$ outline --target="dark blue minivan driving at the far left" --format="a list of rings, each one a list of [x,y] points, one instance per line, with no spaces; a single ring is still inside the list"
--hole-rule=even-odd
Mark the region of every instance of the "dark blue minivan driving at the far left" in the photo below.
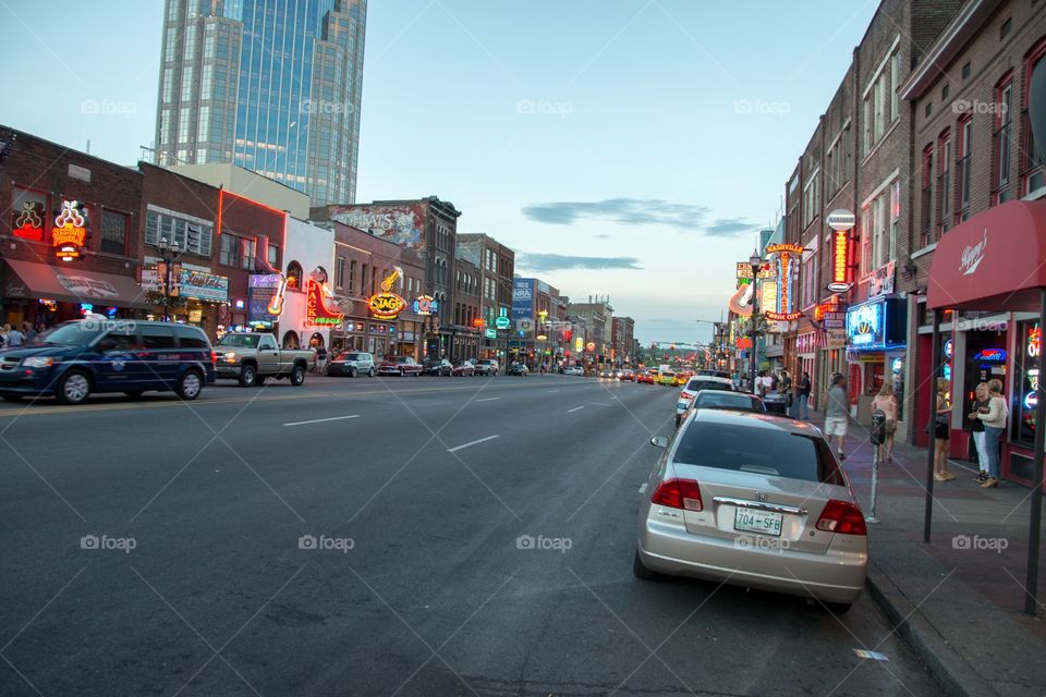
[[[88,317],[0,351],[0,398],[10,401],[53,395],[81,404],[93,392],[138,396],[147,390],[195,400],[214,381],[210,342],[187,325]]]

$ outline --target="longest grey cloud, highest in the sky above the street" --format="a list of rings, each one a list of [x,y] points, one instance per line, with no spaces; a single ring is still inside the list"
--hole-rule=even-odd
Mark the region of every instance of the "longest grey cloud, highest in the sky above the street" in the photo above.
[[[532,204],[522,209],[536,222],[571,225],[582,219],[598,218],[623,224],[656,224],[693,230],[708,215],[706,206],[672,204],[657,198],[607,198],[597,201],[551,201]]]

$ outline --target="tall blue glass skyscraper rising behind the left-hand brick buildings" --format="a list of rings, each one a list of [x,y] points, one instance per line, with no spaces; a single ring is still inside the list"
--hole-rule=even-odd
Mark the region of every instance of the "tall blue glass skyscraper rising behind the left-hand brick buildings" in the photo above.
[[[156,162],[354,203],[366,23],[367,0],[166,0]]]

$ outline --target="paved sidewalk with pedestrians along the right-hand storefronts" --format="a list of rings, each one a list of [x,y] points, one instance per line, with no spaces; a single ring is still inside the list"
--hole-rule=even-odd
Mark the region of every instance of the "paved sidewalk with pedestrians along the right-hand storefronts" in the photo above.
[[[817,426],[824,415],[811,412]],[[874,447],[850,425],[843,463],[871,510]],[[926,450],[898,441],[880,463],[868,525],[868,590],[949,694],[1046,695],[1046,564],[1039,616],[1023,613],[1031,490],[982,489],[971,463],[951,461],[934,482],[931,543],[923,542]]]

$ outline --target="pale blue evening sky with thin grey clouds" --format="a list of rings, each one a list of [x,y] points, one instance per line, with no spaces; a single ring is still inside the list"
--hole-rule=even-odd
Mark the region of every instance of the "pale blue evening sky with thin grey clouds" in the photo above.
[[[0,124],[136,162],[162,4],[0,0]],[[518,276],[707,342],[876,7],[372,0],[356,201],[452,201]]]

